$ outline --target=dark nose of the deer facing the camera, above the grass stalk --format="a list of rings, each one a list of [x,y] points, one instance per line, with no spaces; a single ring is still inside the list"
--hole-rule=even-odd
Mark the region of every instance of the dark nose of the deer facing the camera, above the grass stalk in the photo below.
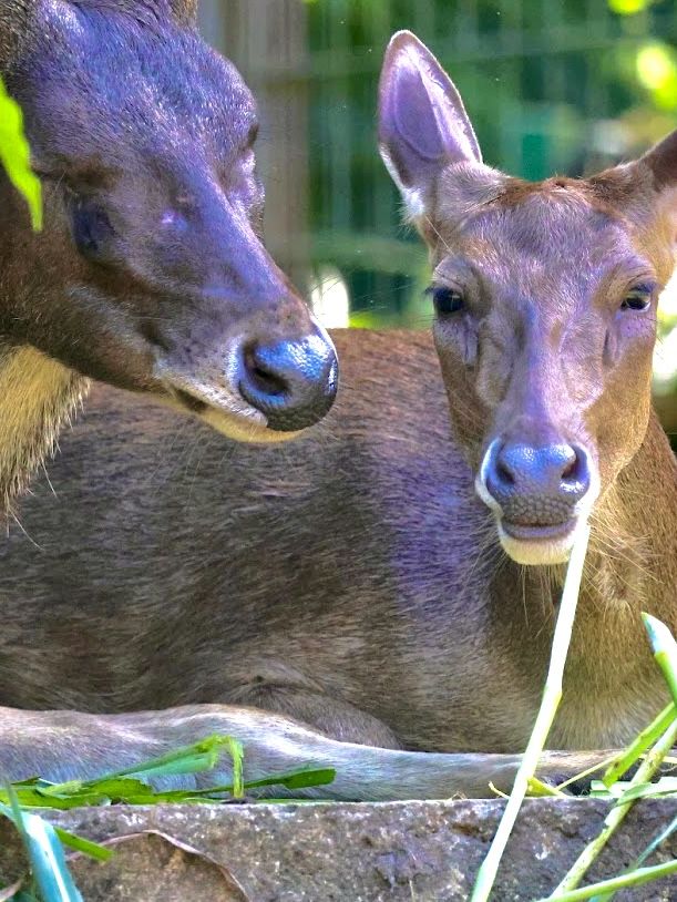
[[[585,449],[568,444],[504,442],[490,451],[484,472],[504,519],[524,526],[566,522],[591,486]]]

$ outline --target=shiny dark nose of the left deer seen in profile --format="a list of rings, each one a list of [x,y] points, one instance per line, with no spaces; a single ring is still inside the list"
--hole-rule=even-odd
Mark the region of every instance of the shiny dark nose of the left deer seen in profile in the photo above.
[[[322,419],[336,398],[336,351],[318,332],[298,341],[248,342],[238,387],[247,403],[265,414],[269,429],[306,429]]]

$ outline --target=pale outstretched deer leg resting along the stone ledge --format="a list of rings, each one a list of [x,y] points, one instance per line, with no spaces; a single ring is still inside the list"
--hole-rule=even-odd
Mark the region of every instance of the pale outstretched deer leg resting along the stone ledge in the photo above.
[[[491,797],[492,782],[509,791],[519,755],[442,755],[375,748],[329,739],[288,717],[256,708],[197,705],[165,711],[99,716],[74,711],[0,710],[0,772],[10,780],[86,779],[129,767],[212,734],[245,747],[245,778],[259,779],[304,765],[334,768],[327,787],[294,790],[295,797],[346,801]],[[541,779],[558,781],[598,763],[601,752],[547,752]],[[229,782],[228,756],[214,771],[156,781],[160,788]],[[275,796],[284,795],[271,788]]]

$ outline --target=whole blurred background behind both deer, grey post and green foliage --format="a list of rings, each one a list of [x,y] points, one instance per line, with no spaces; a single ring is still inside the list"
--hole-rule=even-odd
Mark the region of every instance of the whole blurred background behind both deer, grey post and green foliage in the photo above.
[[[202,0],[205,38],[261,109],[267,243],[328,326],[428,328],[428,268],[376,147],[393,31],[461,91],[485,161],[585,175],[677,127],[677,0]],[[656,400],[677,434],[677,279],[661,298]]]

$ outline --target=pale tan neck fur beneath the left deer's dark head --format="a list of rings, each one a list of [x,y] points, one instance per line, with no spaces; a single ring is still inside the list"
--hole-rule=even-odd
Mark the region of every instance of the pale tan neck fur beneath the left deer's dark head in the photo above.
[[[55,447],[86,379],[34,348],[0,344],[0,516]]]

